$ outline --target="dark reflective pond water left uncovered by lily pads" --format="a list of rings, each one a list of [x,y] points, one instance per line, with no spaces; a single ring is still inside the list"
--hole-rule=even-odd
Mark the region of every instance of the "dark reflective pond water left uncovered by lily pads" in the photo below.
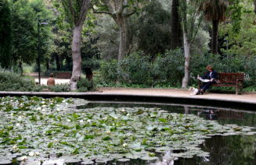
[[[195,114],[207,120],[218,121],[221,125],[243,125],[256,128],[256,113],[252,111],[236,111],[218,108],[182,106],[172,104],[128,104],[128,103],[108,103],[95,102],[89,103],[86,106],[78,108],[89,107],[157,107],[171,113],[180,114]],[[157,165],[254,165],[256,164],[256,136],[255,135],[229,135],[229,136],[213,136],[211,139],[206,139],[201,145],[202,149],[210,153],[209,157],[194,157],[193,159],[179,158],[174,163],[154,163]],[[129,164],[146,164],[144,162],[137,162]]]

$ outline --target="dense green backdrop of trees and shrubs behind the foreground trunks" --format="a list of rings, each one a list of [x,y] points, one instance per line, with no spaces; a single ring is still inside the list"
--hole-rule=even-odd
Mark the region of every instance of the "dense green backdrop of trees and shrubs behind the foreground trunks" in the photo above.
[[[82,31],[82,68],[90,67],[96,86],[180,87],[184,52],[171,50],[172,1],[146,1],[128,19],[128,55],[117,62],[119,27],[108,15],[90,10]],[[204,2],[204,1],[202,1]],[[229,1],[225,1],[229,2]],[[71,71],[72,27],[59,1],[0,0],[0,64],[13,72],[38,72],[38,23],[41,65],[49,72]],[[245,73],[244,87],[254,90],[256,26],[252,0],[229,2],[218,27],[218,54],[211,54],[211,22],[203,20],[191,45],[190,77],[208,64],[218,72]],[[243,21],[241,21],[243,20]],[[182,40],[182,39],[181,39]],[[30,70],[23,67],[32,65]],[[88,83],[81,83],[88,84]],[[189,85],[197,82],[189,80]],[[83,89],[81,87],[80,89]],[[85,90],[85,89],[84,89]]]

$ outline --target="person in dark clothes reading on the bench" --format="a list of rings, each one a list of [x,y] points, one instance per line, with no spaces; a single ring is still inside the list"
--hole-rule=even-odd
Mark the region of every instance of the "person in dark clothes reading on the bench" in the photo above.
[[[206,69],[208,71],[203,77],[201,77],[201,79],[208,79],[209,81],[204,81],[205,83],[203,83],[203,86],[201,86],[197,94],[204,94],[205,90],[207,90],[207,88],[211,86],[211,84],[216,83],[218,80],[218,72],[215,71],[212,65],[207,65]]]

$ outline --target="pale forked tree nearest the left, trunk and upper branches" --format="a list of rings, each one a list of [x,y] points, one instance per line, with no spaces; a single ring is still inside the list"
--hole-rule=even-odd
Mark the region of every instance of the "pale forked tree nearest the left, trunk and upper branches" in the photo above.
[[[61,2],[70,26],[74,27],[72,40],[73,70],[70,90],[77,90],[77,82],[81,78],[81,32],[91,0],[61,0]]]

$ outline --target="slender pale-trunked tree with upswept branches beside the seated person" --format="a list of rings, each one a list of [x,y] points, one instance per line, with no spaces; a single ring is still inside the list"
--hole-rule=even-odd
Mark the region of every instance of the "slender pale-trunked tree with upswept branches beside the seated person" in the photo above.
[[[190,65],[190,45],[197,36],[200,28],[202,15],[197,15],[197,9],[200,5],[198,1],[180,0],[179,15],[182,20],[183,47],[185,55],[185,70],[182,79],[182,88],[186,88],[189,83],[189,65]]]

